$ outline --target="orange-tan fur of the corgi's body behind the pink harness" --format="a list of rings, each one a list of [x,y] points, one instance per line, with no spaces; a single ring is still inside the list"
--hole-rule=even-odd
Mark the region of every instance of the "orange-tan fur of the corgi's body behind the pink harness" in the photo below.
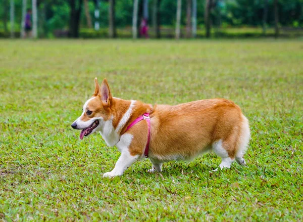
[[[150,116],[149,156],[162,162],[191,160],[212,150],[218,141],[234,158],[245,118],[237,105],[224,99],[158,105]]]

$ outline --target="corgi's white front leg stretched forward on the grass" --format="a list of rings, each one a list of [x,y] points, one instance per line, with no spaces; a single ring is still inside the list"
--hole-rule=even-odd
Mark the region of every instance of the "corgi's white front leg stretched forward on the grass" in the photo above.
[[[116,162],[115,168],[111,172],[104,173],[103,177],[121,176],[123,172],[139,157],[140,155],[130,155],[128,150],[123,151],[118,161]]]

